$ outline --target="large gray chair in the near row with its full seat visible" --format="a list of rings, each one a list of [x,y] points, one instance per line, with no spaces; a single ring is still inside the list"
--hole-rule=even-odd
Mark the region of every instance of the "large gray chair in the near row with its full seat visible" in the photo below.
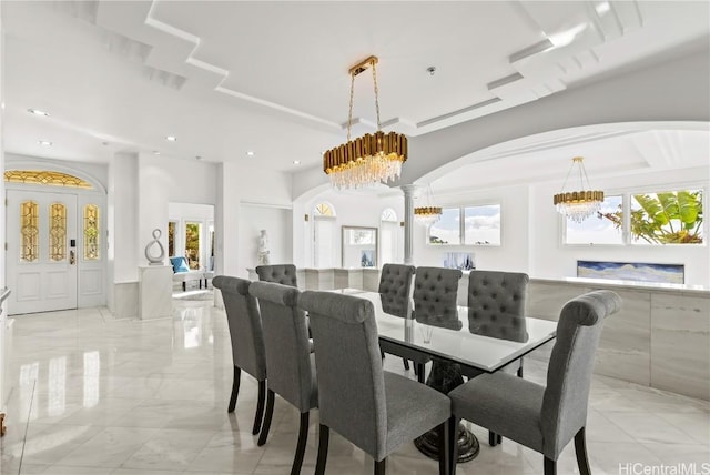
[[[377,474],[406,442],[438,427],[439,449],[448,449],[450,401],[432,387],[383,371],[372,302],[353,295],[306,291],[318,368],[321,414],[315,473],[325,473],[331,428],[371,455]],[[439,474],[448,474],[448,456]]]

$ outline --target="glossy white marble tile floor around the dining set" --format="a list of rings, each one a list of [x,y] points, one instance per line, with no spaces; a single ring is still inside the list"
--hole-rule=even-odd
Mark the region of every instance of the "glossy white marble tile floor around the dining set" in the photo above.
[[[257,447],[251,434],[256,383],[248,376],[242,378],[235,413],[226,413],[232,384],[226,320],[202,299],[200,293],[174,299],[172,319],[115,320],[105,309],[16,317],[0,473],[288,473],[298,414],[277,401],[270,441]],[[385,365],[406,373],[400,358],[386,357]],[[541,360],[526,360],[526,377],[541,382],[545,372]],[[588,421],[595,475],[710,467],[708,402],[595,376]],[[487,441],[486,431],[471,429]],[[304,474],[314,469],[316,431],[317,411]],[[413,445],[393,455],[387,468],[395,475],[437,473],[436,463]],[[371,474],[372,459],[332,434],[327,472]],[[478,458],[459,465],[458,473],[542,474],[542,458],[510,441],[497,447],[484,443]],[[571,446],[559,473],[577,473]]]

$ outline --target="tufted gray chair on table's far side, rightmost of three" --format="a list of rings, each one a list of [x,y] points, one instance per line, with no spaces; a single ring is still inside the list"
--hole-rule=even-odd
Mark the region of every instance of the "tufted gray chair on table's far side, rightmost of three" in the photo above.
[[[528,274],[474,270],[468,274],[468,326],[471,333],[486,334],[503,340],[524,341],[525,303],[527,301]],[[505,371],[517,371],[523,377],[523,358],[506,366]],[[480,371],[462,367],[464,376],[475,377]],[[498,445],[500,435],[488,434],[488,444]]]

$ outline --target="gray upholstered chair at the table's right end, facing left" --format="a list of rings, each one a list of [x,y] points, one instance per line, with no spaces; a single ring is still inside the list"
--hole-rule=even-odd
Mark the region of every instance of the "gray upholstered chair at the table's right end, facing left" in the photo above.
[[[545,475],[557,473],[557,459],[574,438],[579,472],[589,475],[585,427],[595,353],[604,320],[620,307],[621,299],[611,291],[588,292],[567,302],[557,324],[547,385],[505,372],[483,374],[449,393],[453,422],[465,418],[541,453]]]

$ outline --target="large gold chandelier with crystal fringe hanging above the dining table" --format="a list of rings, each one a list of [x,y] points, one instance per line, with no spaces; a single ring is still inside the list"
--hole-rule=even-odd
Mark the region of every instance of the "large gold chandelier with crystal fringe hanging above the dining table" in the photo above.
[[[347,143],[343,143],[323,154],[323,171],[331,176],[331,184],[337,189],[362,188],[378,182],[386,183],[399,178],[402,164],[407,160],[407,138],[396,132],[385,133],[379,124],[379,98],[377,89],[377,57],[369,57],[351,68],[351,105],[347,115]],[[367,68],[373,69],[375,84],[375,109],[377,131],[374,134],[351,140],[353,125],[353,97],[355,77]]]

